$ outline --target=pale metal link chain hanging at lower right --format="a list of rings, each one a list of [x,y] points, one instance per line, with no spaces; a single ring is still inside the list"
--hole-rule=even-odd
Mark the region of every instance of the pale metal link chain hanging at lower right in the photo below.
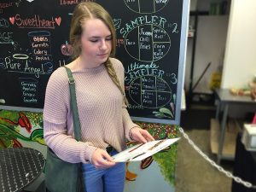
[[[211,160],[211,159],[207,156],[207,154],[204,154],[204,153],[201,151],[201,149],[198,148],[198,147],[195,145],[195,143],[189,138],[188,134],[186,134],[186,133],[183,131],[183,128],[182,128],[182,127],[179,127],[178,130],[183,134],[183,137],[188,140],[189,144],[195,149],[195,151],[196,151],[197,153],[201,154],[201,156],[202,156],[205,160],[207,160],[212,166],[214,166],[215,168],[217,168],[219,172],[222,172],[222,173],[224,173],[227,177],[230,177],[230,178],[234,179],[234,181],[235,181],[236,183],[241,183],[241,184],[243,184],[243,185],[244,185],[245,187],[247,187],[247,188],[256,189],[256,185],[253,185],[252,183],[249,183],[249,182],[247,182],[247,181],[244,181],[244,180],[241,179],[241,177],[236,177],[236,176],[234,176],[231,172],[228,172],[228,171],[224,170],[224,168],[223,168],[222,166],[218,166],[218,164],[217,164],[215,161]]]

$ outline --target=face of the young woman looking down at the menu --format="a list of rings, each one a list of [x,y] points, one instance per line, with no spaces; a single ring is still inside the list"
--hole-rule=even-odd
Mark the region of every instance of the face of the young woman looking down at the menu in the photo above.
[[[86,67],[98,67],[107,61],[112,50],[112,35],[102,20],[84,21],[81,35],[81,59]]]

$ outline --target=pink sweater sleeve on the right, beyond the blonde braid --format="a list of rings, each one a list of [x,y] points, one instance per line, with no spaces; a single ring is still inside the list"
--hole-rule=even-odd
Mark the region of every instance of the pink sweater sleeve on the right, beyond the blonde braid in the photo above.
[[[114,65],[114,67],[116,68],[116,72],[117,72],[117,76],[119,78],[120,84],[123,87],[123,90],[125,90],[125,69],[124,69],[121,61],[114,59],[114,62],[116,63],[116,65]],[[125,105],[125,101],[123,102],[122,117],[123,117],[123,126],[124,126],[124,130],[125,130],[125,137],[126,137],[126,139],[132,141],[130,134],[129,134],[131,131],[131,128],[133,128],[135,126],[137,126],[137,127],[140,127],[140,126],[132,122],[131,116],[127,111],[127,106]]]

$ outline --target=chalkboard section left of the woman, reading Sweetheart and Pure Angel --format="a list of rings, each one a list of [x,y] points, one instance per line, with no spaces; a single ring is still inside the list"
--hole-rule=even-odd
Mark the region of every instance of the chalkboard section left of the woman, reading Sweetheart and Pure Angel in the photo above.
[[[68,41],[69,13],[75,4],[67,6],[61,2],[1,1],[1,108],[44,108],[50,74],[69,61],[69,56],[61,53],[61,46]]]

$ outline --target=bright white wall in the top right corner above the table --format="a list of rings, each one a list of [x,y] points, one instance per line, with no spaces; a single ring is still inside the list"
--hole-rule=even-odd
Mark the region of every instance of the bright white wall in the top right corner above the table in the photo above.
[[[256,1],[233,0],[224,56],[222,88],[241,88],[256,74]]]

